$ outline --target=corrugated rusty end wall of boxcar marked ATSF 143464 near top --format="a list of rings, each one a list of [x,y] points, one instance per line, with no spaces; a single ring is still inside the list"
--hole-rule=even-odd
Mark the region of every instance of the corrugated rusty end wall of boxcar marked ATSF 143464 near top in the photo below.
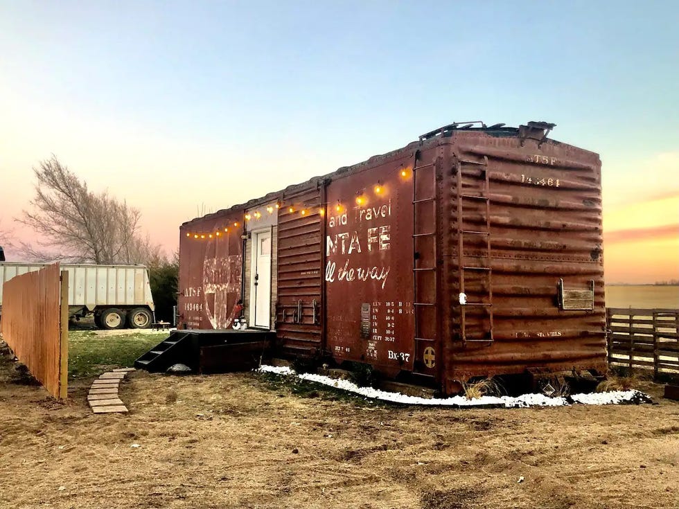
[[[536,141],[527,140],[521,146],[515,137],[485,134],[459,133],[454,143],[451,166],[455,175],[451,171],[446,179],[450,227],[443,248],[449,289],[446,305],[452,311],[446,379],[464,381],[475,375],[517,373],[527,367],[605,370],[597,155],[552,141],[538,148]],[[457,179],[461,178],[461,194],[480,198],[485,172],[488,208],[484,199],[466,199],[459,217]],[[487,210],[490,259],[482,234]],[[466,339],[484,339],[492,310],[493,341],[461,341],[459,229],[479,232],[464,235],[463,265],[492,270],[492,293],[483,271],[465,272],[468,302],[492,304],[465,308]],[[594,309],[561,309],[557,303],[560,278],[567,289],[583,291],[594,280]]]

